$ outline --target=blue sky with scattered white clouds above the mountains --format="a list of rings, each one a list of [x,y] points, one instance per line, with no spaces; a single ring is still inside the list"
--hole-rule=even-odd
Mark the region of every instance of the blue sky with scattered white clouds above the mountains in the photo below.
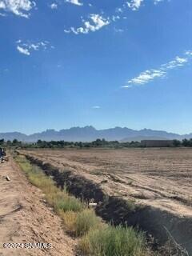
[[[192,132],[191,0],[0,0],[0,131]]]

